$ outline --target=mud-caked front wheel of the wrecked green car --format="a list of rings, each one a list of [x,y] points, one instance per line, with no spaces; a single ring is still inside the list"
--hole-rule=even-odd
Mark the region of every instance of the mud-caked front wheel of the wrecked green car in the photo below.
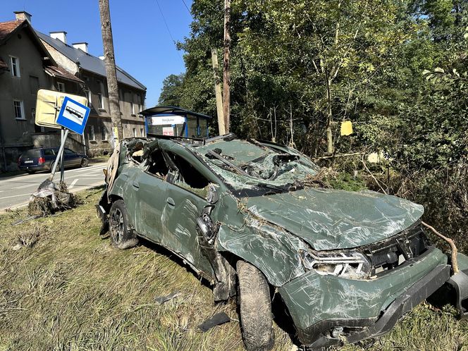
[[[275,340],[270,289],[257,267],[238,261],[238,304],[245,348],[271,350]]]

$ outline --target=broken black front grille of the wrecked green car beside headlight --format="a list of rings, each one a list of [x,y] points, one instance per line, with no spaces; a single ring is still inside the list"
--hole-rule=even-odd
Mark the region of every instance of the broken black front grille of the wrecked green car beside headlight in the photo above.
[[[371,261],[371,276],[381,276],[419,257],[429,246],[424,230],[417,223],[393,238],[364,247],[362,252]]]

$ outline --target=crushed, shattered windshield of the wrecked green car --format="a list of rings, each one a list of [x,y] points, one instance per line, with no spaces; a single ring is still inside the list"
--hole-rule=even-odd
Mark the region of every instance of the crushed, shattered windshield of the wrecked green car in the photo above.
[[[289,191],[319,171],[302,154],[281,152],[246,140],[214,142],[196,147],[196,151],[235,190],[265,187]]]

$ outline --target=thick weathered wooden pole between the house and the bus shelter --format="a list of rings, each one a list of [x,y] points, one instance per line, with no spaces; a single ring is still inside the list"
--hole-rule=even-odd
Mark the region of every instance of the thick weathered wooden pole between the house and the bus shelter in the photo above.
[[[113,147],[123,139],[121,107],[118,104],[118,85],[116,73],[116,57],[113,54],[113,39],[111,27],[111,13],[109,0],[99,0],[99,13],[101,14],[102,46],[104,47],[104,63],[106,65],[107,91],[109,92],[109,105],[111,108]]]

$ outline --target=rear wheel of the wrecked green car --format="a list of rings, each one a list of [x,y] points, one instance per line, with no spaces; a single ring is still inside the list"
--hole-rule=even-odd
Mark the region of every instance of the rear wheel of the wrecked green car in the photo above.
[[[113,202],[109,211],[109,233],[112,245],[118,249],[130,249],[138,244],[135,231],[130,227],[128,212],[123,200]]]

